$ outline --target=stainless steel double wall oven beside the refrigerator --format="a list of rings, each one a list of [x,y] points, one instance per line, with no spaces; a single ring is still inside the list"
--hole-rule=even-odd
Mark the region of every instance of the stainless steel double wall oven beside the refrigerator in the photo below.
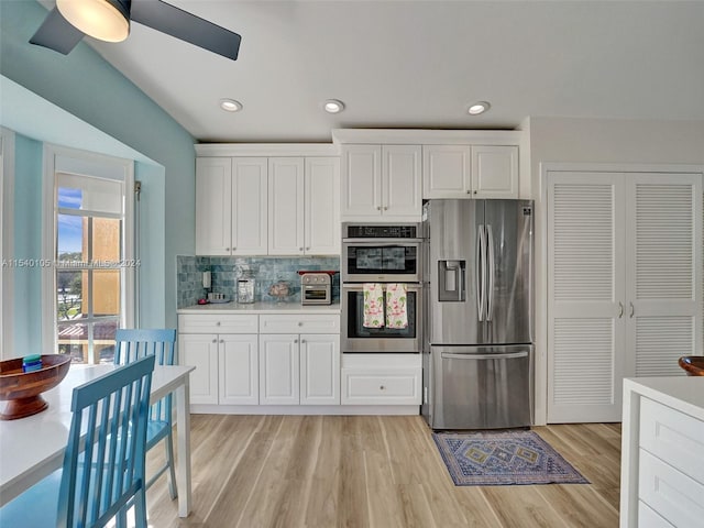
[[[341,308],[343,353],[419,353],[421,350],[422,239],[419,223],[342,224]],[[364,285],[406,287],[407,326],[365,326]],[[385,305],[385,304],[384,304]],[[384,310],[386,307],[384,306]]]

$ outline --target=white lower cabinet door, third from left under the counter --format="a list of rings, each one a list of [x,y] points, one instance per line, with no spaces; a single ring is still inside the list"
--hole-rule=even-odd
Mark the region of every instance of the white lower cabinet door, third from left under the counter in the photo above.
[[[260,336],[260,404],[298,405],[298,334]]]

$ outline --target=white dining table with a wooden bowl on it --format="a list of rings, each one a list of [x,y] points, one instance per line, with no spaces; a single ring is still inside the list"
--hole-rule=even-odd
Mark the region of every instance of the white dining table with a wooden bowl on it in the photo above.
[[[70,428],[74,387],[114,369],[117,366],[111,364],[73,364],[66,377],[43,394],[48,402],[47,409],[26,418],[0,420],[0,506],[62,466]],[[195,366],[156,365],[150,396],[150,400],[155,403],[169,393],[175,394],[179,517],[188,517],[191,501],[188,384],[193,370]]]

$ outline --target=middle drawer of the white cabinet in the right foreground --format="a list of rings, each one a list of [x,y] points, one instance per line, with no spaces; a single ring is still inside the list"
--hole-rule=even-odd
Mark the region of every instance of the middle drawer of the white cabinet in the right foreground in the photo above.
[[[638,498],[674,526],[701,526],[704,484],[639,450]],[[639,526],[647,526],[639,522]]]

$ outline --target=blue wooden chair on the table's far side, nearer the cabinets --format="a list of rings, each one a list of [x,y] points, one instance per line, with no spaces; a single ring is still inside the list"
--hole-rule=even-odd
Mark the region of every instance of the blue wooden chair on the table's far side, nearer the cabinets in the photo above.
[[[175,329],[118,329],[114,334],[114,363],[122,365],[144,358],[156,356],[156,364],[173,365],[176,361],[176,330]],[[176,498],[176,474],[174,470],[174,427],[172,420],[172,395],[154,404],[150,410],[146,426],[146,450],[148,451],[164,440],[166,463],[147,481],[147,490],[154,482],[169,470],[168,492],[172,499]]]

